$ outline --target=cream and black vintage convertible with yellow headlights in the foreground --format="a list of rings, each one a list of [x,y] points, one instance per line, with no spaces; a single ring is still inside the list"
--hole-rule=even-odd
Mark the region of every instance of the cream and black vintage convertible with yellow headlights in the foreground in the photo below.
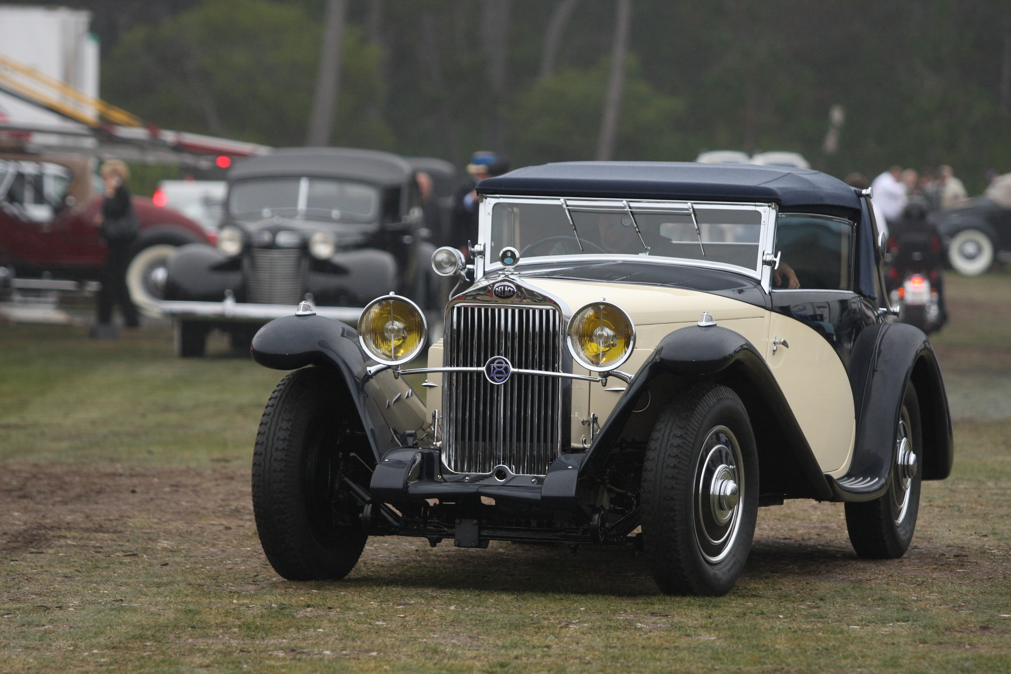
[[[253,499],[288,579],[341,578],[369,536],[643,546],[666,593],[720,595],[758,507],[845,503],[901,557],[952,462],[933,349],[889,322],[869,196],[794,168],[550,164],[480,183],[473,277],[427,366],[424,315],[265,325],[295,370],[257,436]],[[407,378],[426,379],[415,389]],[[427,392],[423,401],[420,391]]]

